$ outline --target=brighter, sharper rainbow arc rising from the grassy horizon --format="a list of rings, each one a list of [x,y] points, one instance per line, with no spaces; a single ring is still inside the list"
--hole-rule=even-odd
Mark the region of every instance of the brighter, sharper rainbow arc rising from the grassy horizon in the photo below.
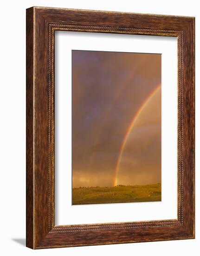
[[[133,120],[131,121],[128,129],[127,129],[127,132],[126,132],[126,135],[124,136],[123,138],[123,143],[120,147],[120,151],[119,151],[119,156],[118,156],[118,159],[117,159],[117,162],[116,162],[116,169],[115,169],[115,176],[114,176],[114,182],[113,182],[113,186],[116,186],[117,185],[117,176],[118,176],[118,172],[119,172],[119,166],[120,166],[120,162],[122,160],[122,155],[123,155],[123,150],[124,150],[124,147],[126,145],[126,142],[129,138],[129,135],[130,135],[130,132],[131,130],[133,129],[138,117],[140,116],[140,114],[142,113],[142,110],[146,107],[146,105],[148,104],[148,102],[151,100],[151,98],[157,93],[157,91],[161,88],[161,84],[159,84],[149,95],[148,97],[146,98],[146,100],[142,103],[141,107],[138,109],[138,111],[135,113],[134,117],[133,117]]]

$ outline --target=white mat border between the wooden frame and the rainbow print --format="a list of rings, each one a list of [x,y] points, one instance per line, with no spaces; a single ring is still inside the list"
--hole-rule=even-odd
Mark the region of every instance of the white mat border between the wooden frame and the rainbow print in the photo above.
[[[71,205],[72,49],[162,54],[161,202]],[[174,111],[177,109],[176,85],[177,38],[175,37],[56,31],[55,223],[57,225],[177,219],[177,111]]]

